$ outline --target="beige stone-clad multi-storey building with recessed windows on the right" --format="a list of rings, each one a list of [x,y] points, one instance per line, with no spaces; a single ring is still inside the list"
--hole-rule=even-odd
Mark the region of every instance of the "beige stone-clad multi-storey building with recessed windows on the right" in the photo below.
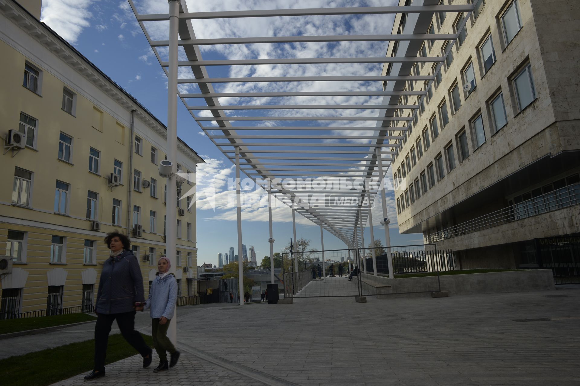
[[[393,112],[415,118],[398,124],[407,131],[394,131],[404,135],[392,169],[400,232],[422,232],[427,243],[452,249],[458,268],[548,268],[546,245],[563,247],[578,265],[580,2],[412,5],[467,2],[476,3],[467,20],[467,13],[409,13],[394,23],[393,34],[453,34],[466,21],[438,71],[440,63],[383,69],[436,75],[385,83],[426,91],[390,102],[419,104],[415,116]],[[445,57],[450,43],[401,41],[387,56]]]

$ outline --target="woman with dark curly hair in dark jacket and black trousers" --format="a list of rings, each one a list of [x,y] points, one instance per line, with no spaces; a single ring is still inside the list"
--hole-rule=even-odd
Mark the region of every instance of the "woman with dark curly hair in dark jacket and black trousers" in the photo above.
[[[139,261],[131,251],[129,238],[121,232],[111,232],[104,239],[110,257],[104,262],[99,279],[95,313],[95,365],[85,381],[105,376],[108,335],[117,321],[125,340],[143,356],[143,367],[151,365],[153,350],[135,330],[136,307],[141,307],[143,276]]]

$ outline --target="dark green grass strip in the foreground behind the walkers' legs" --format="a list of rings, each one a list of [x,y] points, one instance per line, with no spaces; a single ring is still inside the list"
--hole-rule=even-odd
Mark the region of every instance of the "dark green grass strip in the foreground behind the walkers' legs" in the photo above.
[[[143,335],[143,338],[150,347],[153,347],[153,339],[150,336]],[[93,369],[94,352],[95,340],[91,339],[25,355],[10,356],[0,360],[1,384],[44,386],[77,374],[88,374]],[[135,349],[126,343],[121,334],[109,336],[107,364],[136,354]],[[83,383],[81,378],[79,383]]]

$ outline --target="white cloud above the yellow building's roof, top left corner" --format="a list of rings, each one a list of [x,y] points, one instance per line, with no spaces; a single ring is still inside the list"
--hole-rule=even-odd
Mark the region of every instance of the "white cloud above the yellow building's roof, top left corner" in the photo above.
[[[44,0],[41,21],[69,43],[76,43],[82,30],[90,27],[88,11],[93,0]]]

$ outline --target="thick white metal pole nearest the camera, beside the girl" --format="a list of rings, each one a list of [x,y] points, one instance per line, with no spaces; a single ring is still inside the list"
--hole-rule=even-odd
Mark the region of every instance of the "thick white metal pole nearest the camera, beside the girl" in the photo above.
[[[177,41],[179,40],[179,0],[168,0],[169,3],[169,67],[168,67],[168,103],[167,103],[167,159],[172,164],[172,172],[177,165]],[[133,141],[133,139],[131,139]],[[167,229],[165,234],[165,256],[171,261],[170,272],[177,267],[177,183],[170,175],[167,179]],[[167,336],[171,343],[177,344],[177,307],[169,323]]]

